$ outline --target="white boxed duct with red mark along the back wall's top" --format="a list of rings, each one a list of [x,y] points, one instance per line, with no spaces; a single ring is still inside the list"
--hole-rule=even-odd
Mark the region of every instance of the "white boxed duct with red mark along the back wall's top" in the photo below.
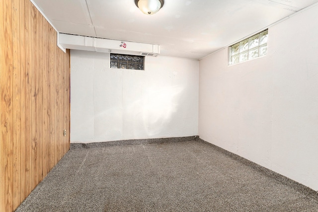
[[[118,53],[126,55],[143,55],[157,57],[160,46],[156,44],[119,41],[104,38],[93,38],[80,35],[59,33],[58,45],[65,49],[76,49],[93,52]]]

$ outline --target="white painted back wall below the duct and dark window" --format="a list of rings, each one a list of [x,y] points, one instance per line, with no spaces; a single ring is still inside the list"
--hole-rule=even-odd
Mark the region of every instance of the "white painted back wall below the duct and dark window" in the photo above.
[[[147,57],[145,69],[71,50],[71,142],[197,135],[199,62]]]

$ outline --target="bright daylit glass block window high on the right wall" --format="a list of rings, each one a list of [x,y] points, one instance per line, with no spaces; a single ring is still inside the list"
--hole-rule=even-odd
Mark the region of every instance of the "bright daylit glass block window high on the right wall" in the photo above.
[[[268,29],[230,47],[229,65],[266,55]]]

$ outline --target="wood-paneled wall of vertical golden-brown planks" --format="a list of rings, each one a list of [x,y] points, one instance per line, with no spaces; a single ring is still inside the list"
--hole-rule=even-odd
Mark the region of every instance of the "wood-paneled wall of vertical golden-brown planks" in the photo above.
[[[70,52],[56,42],[30,0],[0,1],[0,212],[14,211],[70,147]]]

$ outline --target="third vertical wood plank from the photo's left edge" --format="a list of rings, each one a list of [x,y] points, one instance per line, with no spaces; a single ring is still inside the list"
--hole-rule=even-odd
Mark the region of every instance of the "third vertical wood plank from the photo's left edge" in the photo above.
[[[20,203],[25,199],[25,42],[24,42],[24,0],[19,0],[20,18]]]

